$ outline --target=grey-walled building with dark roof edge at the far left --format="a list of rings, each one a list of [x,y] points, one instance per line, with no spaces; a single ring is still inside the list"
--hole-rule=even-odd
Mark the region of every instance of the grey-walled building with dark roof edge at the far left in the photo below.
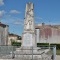
[[[0,22],[0,45],[8,45],[8,27]]]

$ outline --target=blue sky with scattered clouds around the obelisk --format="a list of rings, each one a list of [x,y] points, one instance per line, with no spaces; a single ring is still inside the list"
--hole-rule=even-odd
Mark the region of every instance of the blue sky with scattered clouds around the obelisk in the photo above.
[[[35,24],[60,24],[60,0],[0,0],[0,21],[22,35],[26,3],[34,3]]]

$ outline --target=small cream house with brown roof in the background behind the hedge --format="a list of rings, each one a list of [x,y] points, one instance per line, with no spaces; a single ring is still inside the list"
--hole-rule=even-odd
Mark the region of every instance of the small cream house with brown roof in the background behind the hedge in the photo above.
[[[13,41],[14,42],[21,42],[22,41],[22,38],[19,35],[16,35],[16,34],[11,33],[8,36],[8,45],[11,45],[11,42],[13,42]]]

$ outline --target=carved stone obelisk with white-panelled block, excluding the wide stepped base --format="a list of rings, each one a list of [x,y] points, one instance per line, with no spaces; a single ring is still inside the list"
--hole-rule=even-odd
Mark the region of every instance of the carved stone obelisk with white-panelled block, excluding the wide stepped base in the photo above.
[[[34,24],[34,5],[33,3],[26,4],[24,18],[24,32],[22,36],[23,47],[36,47],[35,40],[35,24]]]

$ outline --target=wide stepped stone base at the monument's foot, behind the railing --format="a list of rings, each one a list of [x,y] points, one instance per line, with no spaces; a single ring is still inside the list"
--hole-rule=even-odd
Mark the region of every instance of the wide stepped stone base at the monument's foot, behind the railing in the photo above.
[[[19,57],[20,59],[27,60],[49,60],[49,56],[46,54],[49,49],[42,50],[37,47],[21,47],[19,50],[17,49],[15,52],[15,58]],[[47,52],[46,52],[47,51]]]

